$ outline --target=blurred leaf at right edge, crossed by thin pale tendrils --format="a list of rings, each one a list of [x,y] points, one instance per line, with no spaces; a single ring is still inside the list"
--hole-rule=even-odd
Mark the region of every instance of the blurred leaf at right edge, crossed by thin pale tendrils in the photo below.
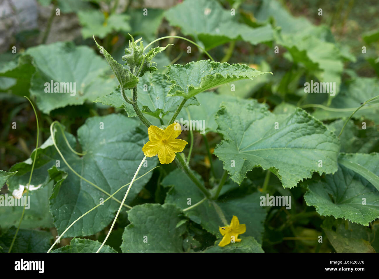
[[[341,93],[332,100],[330,109],[316,109],[313,116],[319,120],[329,120],[349,117],[364,101],[377,95],[379,81],[377,78],[359,77],[341,85]],[[335,109],[335,110],[334,110]],[[367,118],[379,122],[379,105],[366,104],[357,111],[352,118]]]

